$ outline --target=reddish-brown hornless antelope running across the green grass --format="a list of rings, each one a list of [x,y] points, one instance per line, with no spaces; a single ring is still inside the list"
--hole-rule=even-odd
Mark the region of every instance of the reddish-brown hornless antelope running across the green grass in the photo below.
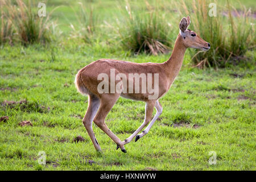
[[[172,82],[178,75],[186,49],[199,48],[204,51],[210,49],[208,42],[200,38],[196,32],[187,29],[189,24],[189,16],[181,19],[179,24],[180,32],[177,35],[172,55],[164,63],[138,64],[120,60],[100,59],[80,69],[77,73],[76,88],[78,92],[87,94],[89,97],[88,109],[82,122],[97,151],[101,151],[101,147],[94,136],[92,122],[114,140],[117,144],[117,149],[121,148],[122,152],[126,152],[125,144],[131,142],[134,137],[135,142],[137,142],[138,139],[146,135],[162,113],[163,107],[160,105],[159,98],[168,92]],[[154,79],[152,79],[152,75],[154,75]],[[110,80],[108,80],[109,77]],[[103,81],[102,78],[104,78]],[[155,93],[153,93],[154,91]],[[146,102],[144,122],[123,142],[105,124],[106,115],[108,115],[120,96]],[[156,114],[150,122],[154,107]],[[150,124],[147,126],[149,122]],[[139,134],[144,127],[146,129]]]

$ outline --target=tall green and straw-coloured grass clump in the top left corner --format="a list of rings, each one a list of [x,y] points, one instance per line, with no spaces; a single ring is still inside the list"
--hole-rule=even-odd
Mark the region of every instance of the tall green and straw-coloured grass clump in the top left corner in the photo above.
[[[46,43],[51,38],[49,14],[46,17],[39,17],[37,12],[32,11],[31,2],[28,5],[23,0],[1,1],[2,17],[1,22],[1,43],[7,38],[13,42],[20,42],[24,46],[32,43]],[[35,6],[36,7],[36,6]],[[1,17],[1,18],[2,18]],[[3,36],[2,36],[3,35]]]

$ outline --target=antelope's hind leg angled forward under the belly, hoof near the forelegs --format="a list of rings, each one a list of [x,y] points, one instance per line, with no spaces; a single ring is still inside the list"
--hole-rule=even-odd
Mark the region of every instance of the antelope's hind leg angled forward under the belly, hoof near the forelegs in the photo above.
[[[123,146],[121,140],[112,131],[110,131],[105,123],[106,115],[108,115],[109,111],[112,109],[119,96],[120,94],[117,93],[108,94],[106,97],[102,96],[100,109],[98,110],[98,113],[96,114],[96,117],[93,119],[93,121],[117,144],[118,148],[121,148],[122,152],[126,153],[125,147]]]

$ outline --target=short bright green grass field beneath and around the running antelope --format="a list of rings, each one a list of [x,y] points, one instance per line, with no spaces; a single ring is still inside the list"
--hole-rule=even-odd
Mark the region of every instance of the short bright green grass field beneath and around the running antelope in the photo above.
[[[115,1],[93,3],[96,11],[109,15],[107,20],[115,21]],[[232,3],[239,9],[237,1]],[[254,1],[244,3],[255,12]],[[59,19],[60,40],[0,49],[0,117],[9,117],[0,122],[0,170],[256,169],[255,49],[238,65],[223,69],[192,68],[187,51],[179,76],[160,98],[163,113],[150,132],[127,144],[124,154],[93,124],[102,148],[97,153],[82,124],[88,98],[73,84],[77,71],[101,58],[162,63],[171,52],[134,56],[108,44],[106,37],[92,45],[69,39],[69,24],[77,24],[70,6],[79,5],[51,1],[49,9],[59,5],[52,16]],[[123,140],[143,119],[144,102],[119,98],[106,125]],[[22,121],[32,126],[19,126]],[[79,135],[85,140],[74,142]],[[39,151],[46,152],[46,165],[38,163]],[[208,162],[211,151],[217,156],[214,165]]]

